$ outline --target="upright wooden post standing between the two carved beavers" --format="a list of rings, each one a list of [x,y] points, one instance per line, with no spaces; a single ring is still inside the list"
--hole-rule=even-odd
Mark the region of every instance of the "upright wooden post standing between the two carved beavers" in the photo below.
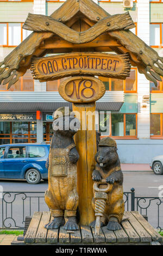
[[[95,102],[73,103],[73,111],[78,111],[81,117],[81,130],[74,136],[74,142],[80,156],[77,163],[80,225],[89,225],[95,220],[95,212],[91,204],[93,198],[92,171],[95,168],[95,154],[97,151],[95,115],[92,115],[92,130],[88,130],[89,121],[87,118],[87,113],[89,111],[93,113],[95,110]],[[82,130],[82,127],[85,130]]]

